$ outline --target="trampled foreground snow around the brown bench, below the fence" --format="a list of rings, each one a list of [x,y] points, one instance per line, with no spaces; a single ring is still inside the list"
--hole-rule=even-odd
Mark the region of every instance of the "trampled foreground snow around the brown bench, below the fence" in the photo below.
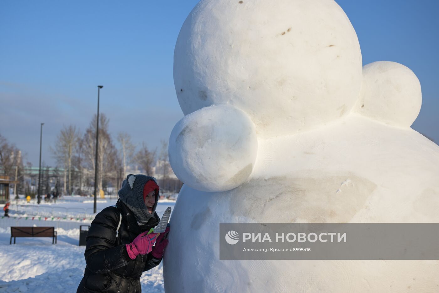
[[[86,265],[85,246],[76,245],[79,230],[75,238],[58,236],[56,245],[50,238],[17,238],[9,245],[10,236],[0,233],[0,292],[76,292]],[[162,264],[140,282],[144,292],[164,292]]]

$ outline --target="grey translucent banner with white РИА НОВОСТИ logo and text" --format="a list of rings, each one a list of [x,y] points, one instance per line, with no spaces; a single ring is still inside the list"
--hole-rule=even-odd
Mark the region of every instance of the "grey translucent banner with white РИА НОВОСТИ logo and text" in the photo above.
[[[220,260],[439,260],[439,224],[219,224]]]

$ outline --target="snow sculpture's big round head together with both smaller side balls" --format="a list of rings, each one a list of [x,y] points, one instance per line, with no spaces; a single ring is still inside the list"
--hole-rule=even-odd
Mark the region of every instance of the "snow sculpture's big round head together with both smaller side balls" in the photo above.
[[[174,84],[186,117],[171,133],[169,161],[203,191],[244,183],[258,139],[352,112],[409,127],[421,106],[407,67],[362,69],[356,33],[333,0],[201,0],[177,39]]]

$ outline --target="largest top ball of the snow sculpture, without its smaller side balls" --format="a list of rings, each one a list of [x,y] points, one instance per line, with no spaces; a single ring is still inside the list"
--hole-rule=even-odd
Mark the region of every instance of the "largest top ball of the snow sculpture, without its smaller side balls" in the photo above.
[[[174,84],[185,115],[234,105],[266,138],[349,112],[361,66],[356,33],[335,1],[202,0],[178,36]]]

